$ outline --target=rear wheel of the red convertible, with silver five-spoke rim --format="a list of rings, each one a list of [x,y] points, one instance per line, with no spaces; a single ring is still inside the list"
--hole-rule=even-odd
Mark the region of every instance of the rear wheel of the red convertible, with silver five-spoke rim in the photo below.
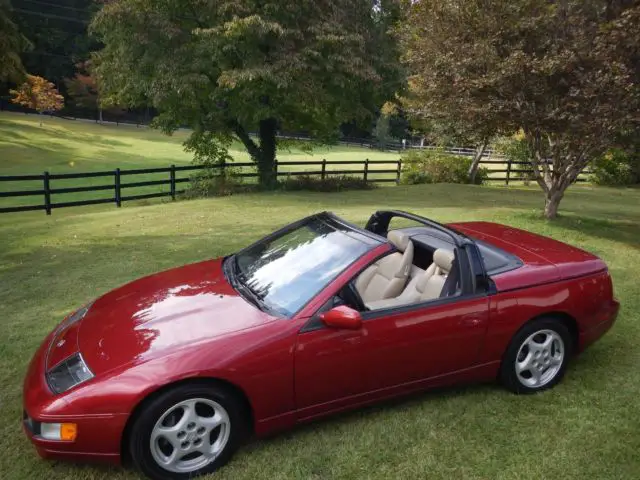
[[[500,366],[500,380],[514,393],[547,390],[562,380],[572,351],[571,334],[560,320],[533,320],[509,343]]]

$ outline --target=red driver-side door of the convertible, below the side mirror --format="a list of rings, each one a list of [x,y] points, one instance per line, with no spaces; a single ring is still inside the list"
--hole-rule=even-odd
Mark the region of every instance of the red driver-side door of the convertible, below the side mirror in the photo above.
[[[428,379],[472,366],[488,306],[482,294],[362,312],[358,330],[312,319],[295,350],[299,419],[426,386]]]

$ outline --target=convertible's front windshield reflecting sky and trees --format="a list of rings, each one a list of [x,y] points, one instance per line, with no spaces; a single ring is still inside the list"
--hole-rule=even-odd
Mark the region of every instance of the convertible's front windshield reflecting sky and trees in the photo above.
[[[379,244],[330,218],[313,217],[236,254],[236,279],[270,310],[291,316]]]

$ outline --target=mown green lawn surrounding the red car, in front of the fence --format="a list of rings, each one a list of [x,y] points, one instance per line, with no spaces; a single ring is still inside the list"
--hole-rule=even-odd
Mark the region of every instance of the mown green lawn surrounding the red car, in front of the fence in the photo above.
[[[617,324],[551,391],[516,396],[480,385],[413,396],[256,441],[212,478],[640,478],[640,191],[572,187],[564,216],[552,223],[540,218],[541,205],[533,188],[434,185],[0,215],[0,477],[138,478],[42,461],[22,434],[27,363],[67,312],[142,275],[233,252],[312,212],[363,224],[387,207],[444,222],[502,222],[601,256],[622,302]]]

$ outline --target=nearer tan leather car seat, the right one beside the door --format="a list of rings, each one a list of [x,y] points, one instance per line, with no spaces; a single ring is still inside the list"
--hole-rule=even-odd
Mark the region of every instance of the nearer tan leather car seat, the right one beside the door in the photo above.
[[[440,297],[447,275],[451,271],[454,255],[450,250],[442,248],[433,253],[433,263],[422,273],[412,275],[404,291],[395,298],[367,302],[365,305],[371,310],[390,308],[411,303],[425,302]]]

